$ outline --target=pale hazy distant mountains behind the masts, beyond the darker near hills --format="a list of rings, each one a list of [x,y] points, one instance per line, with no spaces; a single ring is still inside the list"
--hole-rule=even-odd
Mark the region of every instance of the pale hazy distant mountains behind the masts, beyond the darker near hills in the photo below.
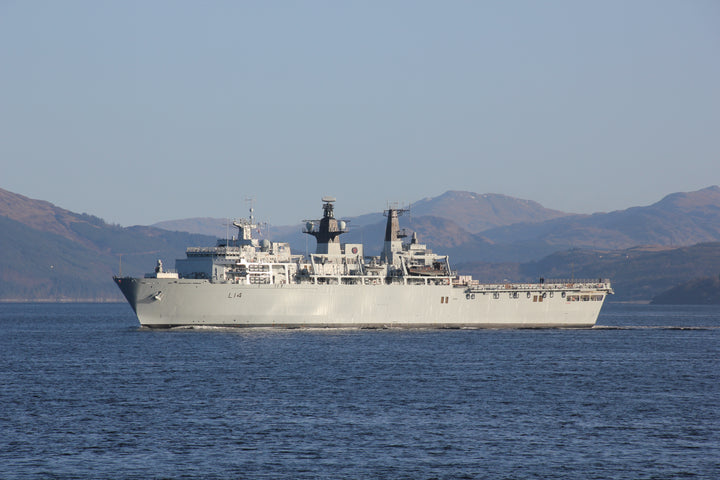
[[[366,244],[368,254],[382,249],[384,218],[336,215],[349,221],[344,241]],[[312,218],[313,216],[310,216]],[[222,219],[187,219],[154,226],[226,235]],[[720,187],[674,193],[646,207],[578,215],[550,210],[536,202],[505,195],[449,191],[415,202],[402,226],[418,232],[420,241],[447,252],[457,262],[526,262],[569,248],[624,249],[636,245],[683,246],[720,241]],[[201,226],[207,225],[207,230]],[[268,237],[305,251],[301,223],[272,226]]]

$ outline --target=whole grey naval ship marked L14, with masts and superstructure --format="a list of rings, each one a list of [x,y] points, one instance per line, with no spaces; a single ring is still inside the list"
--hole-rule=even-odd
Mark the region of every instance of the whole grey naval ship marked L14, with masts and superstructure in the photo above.
[[[347,223],[323,197],[323,216],[305,221],[314,254],[253,238],[258,225],[233,222],[237,237],[191,247],[175,271],[158,260],[144,278],[114,277],[142,326],[234,327],[592,327],[608,280],[487,284],[456,275],[447,256],[409,241],[399,227],[407,210],[388,208],[382,254],[340,243]]]

